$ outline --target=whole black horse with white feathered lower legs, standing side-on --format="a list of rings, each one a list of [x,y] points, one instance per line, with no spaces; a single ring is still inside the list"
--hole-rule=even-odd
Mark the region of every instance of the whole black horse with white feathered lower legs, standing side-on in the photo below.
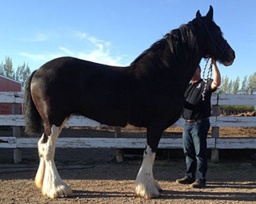
[[[55,144],[72,114],[102,124],[146,127],[143,163],[135,181],[135,193],[159,196],[152,166],[163,131],[174,124],[183,108],[186,86],[204,57],[229,66],[235,52],[212,20],[213,9],[167,33],[128,67],[115,67],[73,57],[47,62],[29,77],[25,90],[27,132],[44,133],[38,142],[40,164],[36,186],[51,198],[70,196],[55,167]]]

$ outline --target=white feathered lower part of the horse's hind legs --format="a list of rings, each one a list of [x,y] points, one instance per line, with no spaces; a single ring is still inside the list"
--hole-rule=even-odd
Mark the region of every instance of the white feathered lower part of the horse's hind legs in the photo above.
[[[40,142],[43,137],[38,142],[38,151],[43,157],[40,159],[36,184],[41,184],[41,180],[43,179],[42,193],[50,198],[72,196],[71,188],[61,180],[54,163],[55,145],[61,128],[52,125],[51,130],[52,133],[46,143]],[[41,172],[44,172],[44,176],[40,176],[42,174]]]

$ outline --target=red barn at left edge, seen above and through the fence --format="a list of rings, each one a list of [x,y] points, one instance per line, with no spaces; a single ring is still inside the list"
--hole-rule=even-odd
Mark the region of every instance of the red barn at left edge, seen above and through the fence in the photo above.
[[[21,91],[21,83],[0,75],[0,91]],[[22,104],[19,104],[22,114]],[[0,103],[0,114],[12,114],[12,103]]]

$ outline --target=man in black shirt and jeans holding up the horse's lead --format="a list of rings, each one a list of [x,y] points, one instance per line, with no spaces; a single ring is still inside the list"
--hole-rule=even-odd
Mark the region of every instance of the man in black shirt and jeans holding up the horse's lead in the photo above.
[[[179,184],[191,184],[193,188],[206,186],[207,173],[207,133],[210,127],[212,92],[221,84],[221,76],[215,60],[211,59],[213,79],[204,82],[198,65],[189,86],[185,91],[185,104],[182,117],[183,150],[186,157],[185,177],[177,179]],[[203,96],[203,94],[205,94]]]

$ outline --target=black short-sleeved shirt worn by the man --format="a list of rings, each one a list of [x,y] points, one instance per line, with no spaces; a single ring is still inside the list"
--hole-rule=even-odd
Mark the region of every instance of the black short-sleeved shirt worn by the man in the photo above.
[[[182,117],[186,120],[207,118],[211,116],[211,96],[212,92],[212,79],[207,82],[205,96],[203,101],[202,93],[204,91],[205,82],[200,79],[198,82],[192,84],[186,88],[184,97],[185,104],[182,112]]]

